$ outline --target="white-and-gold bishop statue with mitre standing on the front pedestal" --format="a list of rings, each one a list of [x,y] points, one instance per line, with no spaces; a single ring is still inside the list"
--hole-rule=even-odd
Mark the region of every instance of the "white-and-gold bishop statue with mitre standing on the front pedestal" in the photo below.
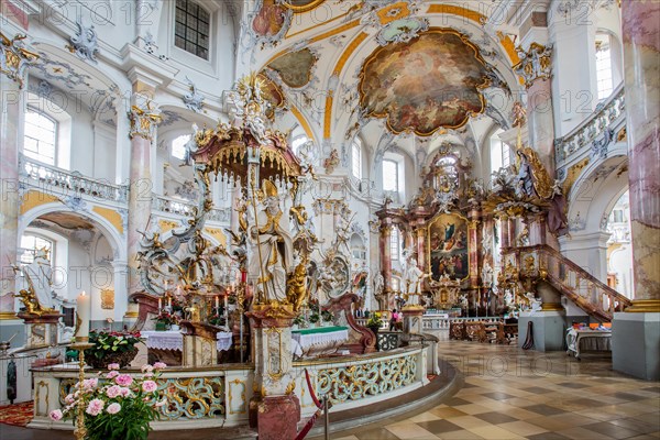
[[[250,260],[248,274],[256,292],[268,301],[286,300],[286,277],[294,270],[294,242],[287,216],[279,208],[277,188],[264,180],[264,209],[249,230]]]

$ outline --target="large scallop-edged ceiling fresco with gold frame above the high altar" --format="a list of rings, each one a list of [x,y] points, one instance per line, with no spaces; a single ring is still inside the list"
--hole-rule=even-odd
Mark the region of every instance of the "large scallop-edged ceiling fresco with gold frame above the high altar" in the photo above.
[[[394,133],[428,136],[483,112],[480,88],[487,84],[479,48],[465,35],[437,28],[376,48],[360,73],[360,105],[366,116],[386,118]]]

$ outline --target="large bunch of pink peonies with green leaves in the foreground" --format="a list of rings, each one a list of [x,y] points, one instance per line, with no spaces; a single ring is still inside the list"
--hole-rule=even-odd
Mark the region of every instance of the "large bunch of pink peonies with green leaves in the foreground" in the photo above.
[[[84,422],[88,440],[145,440],[150,422],[158,418],[167,403],[158,399],[157,378],[166,365],[156,362],[143,365],[142,375],[122,374],[119,364],[108,365],[109,372],[77,383],[65,397],[63,409],[51,411],[51,419],[73,419],[79,405],[85,407]]]

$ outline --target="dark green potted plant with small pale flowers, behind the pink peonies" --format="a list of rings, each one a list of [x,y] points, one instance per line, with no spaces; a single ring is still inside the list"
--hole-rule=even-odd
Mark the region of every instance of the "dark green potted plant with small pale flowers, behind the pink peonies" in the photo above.
[[[128,366],[138,355],[138,343],[142,342],[140,332],[121,332],[92,330],[89,332],[89,343],[94,346],[85,350],[87,364],[95,369],[106,369],[108,364],[117,363]]]

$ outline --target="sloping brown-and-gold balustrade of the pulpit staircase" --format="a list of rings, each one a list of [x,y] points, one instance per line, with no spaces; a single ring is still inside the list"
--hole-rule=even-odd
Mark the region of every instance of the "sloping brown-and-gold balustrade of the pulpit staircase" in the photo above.
[[[521,276],[544,278],[578,307],[598,319],[610,321],[615,311],[624,311],[632,304],[548,245],[516,248],[504,253],[515,254]],[[522,262],[529,256],[534,257],[534,265],[524,267]]]

